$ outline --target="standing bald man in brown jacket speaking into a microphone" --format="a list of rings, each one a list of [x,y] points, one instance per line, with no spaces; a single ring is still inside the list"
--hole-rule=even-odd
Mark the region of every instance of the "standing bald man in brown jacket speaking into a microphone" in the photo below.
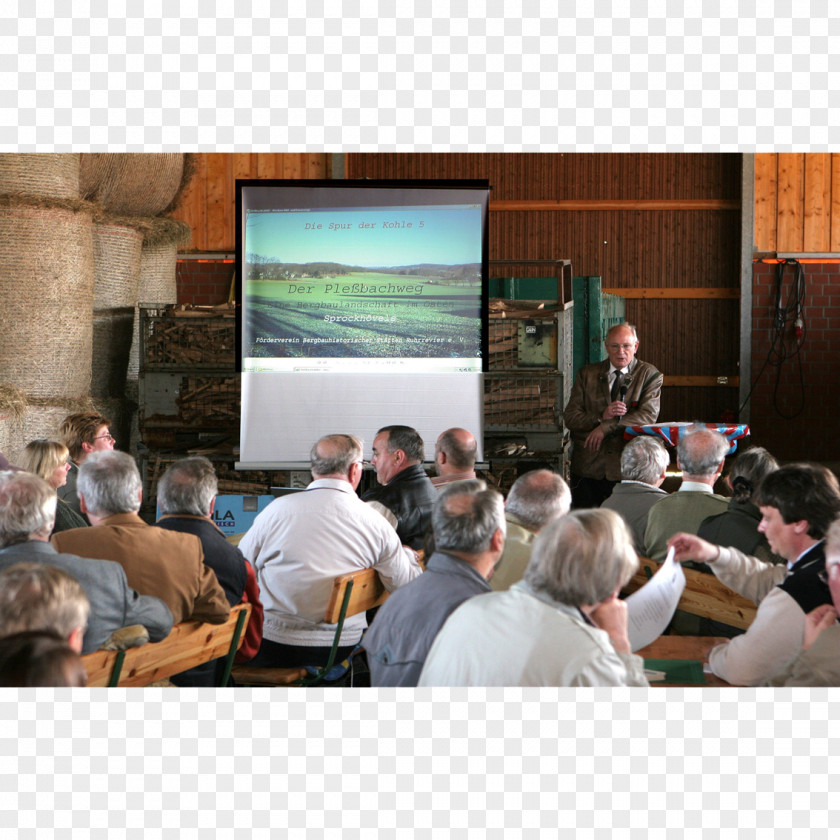
[[[578,372],[563,421],[572,433],[572,507],[599,507],[621,480],[624,429],[656,422],[662,374],[636,358],[632,324],[607,333],[607,359]]]

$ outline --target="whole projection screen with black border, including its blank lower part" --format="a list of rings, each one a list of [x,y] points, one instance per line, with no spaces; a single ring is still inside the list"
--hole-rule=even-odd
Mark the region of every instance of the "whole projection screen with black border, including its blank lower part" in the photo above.
[[[240,469],[322,435],[461,426],[481,451],[486,181],[236,182]]]

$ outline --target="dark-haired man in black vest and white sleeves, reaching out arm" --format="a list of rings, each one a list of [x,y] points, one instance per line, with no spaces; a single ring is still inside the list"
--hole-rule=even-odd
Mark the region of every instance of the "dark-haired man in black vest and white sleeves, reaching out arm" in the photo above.
[[[834,474],[818,464],[786,464],[761,482],[755,502],[761,510],[758,528],[787,566],[764,563],[693,534],[669,540],[677,561],[708,563],[723,583],[758,604],[747,632],[709,653],[713,673],[733,685],[760,685],[784,671],[802,647],[807,614],[831,603],[821,575],[823,538],[840,515]]]

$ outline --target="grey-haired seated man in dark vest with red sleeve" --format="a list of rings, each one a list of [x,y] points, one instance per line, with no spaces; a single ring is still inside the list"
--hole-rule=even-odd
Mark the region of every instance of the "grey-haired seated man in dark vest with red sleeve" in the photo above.
[[[195,455],[176,461],[158,482],[157,501],[162,516],[156,524],[166,531],[198,537],[204,564],[215,572],[228,604],[235,606],[244,601],[252,605],[245,639],[236,656],[237,662],[247,662],[260,648],[263,609],[253,567],[211,519],[218,489],[216,471],[207,458]],[[217,668],[223,661],[198,665],[172,677],[172,682],[181,686],[217,685]]]

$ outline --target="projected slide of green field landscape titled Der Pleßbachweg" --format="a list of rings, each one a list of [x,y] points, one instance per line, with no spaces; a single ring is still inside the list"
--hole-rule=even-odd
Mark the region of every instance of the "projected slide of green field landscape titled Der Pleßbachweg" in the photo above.
[[[478,205],[252,211],[243,357],[481,358]]]

